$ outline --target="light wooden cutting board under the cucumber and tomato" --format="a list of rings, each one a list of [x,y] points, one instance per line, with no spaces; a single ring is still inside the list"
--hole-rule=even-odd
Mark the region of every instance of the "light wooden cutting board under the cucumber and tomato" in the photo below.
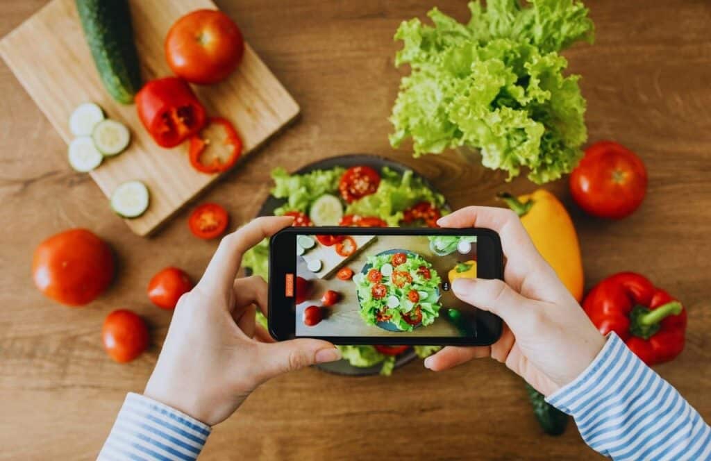
[[[176,19],[196,9],[217,9],[210,0],[129,3],[144,81],[171,75],[163,44]],[[135,233],[148,235],[218,178],[192,169],[186,143],[174,149],[158,147],[139,122],[135,105],[112,100],[95,68],[73,0],[51,1],[0,41],[0,55],[65,142],[73,139],[69,116],[82,102],[96,102],[108,117],[129,127],[129,148],[105,159],[90,174],[107,197],[132,179],[149,187],[146,213],[126,220]],[[299,113],[299,105],[248,45],[242,63],[227,80],[193,89],[208,115],[221,115],[235,124],[244,141],[242,159]]]

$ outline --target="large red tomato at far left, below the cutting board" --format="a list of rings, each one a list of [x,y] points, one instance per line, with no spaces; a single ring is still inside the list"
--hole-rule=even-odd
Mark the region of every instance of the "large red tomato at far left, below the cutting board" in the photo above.
[[[81,306],[109,286],[114,277],[114,255],[109,245],[89,230],[65,230],[37,247],[32,277],[46,297],[67,306]]]

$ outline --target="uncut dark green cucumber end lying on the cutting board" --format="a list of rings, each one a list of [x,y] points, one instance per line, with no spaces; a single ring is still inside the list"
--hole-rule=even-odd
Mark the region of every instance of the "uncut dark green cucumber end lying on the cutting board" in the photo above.
[[[76,0],[84,35],[104,87],[114,100],[131,104],[141,89],[128,0]]]

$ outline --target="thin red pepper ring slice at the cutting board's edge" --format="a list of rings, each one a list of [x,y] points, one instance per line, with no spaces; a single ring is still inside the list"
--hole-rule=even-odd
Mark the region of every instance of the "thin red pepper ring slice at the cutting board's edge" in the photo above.
[[[221,173],[232,168],[242,154],[242,138],[222,117],[212,117],[190,137],[190,164],[202,173]]]

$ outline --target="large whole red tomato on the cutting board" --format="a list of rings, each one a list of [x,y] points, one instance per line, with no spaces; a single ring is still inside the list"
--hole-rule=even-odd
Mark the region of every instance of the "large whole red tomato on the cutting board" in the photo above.
[[[226,14],[201,9],[173,24],[165,43],[173,73],[191,83],[207,85],[225,79],[245,53],[242,33]]]

